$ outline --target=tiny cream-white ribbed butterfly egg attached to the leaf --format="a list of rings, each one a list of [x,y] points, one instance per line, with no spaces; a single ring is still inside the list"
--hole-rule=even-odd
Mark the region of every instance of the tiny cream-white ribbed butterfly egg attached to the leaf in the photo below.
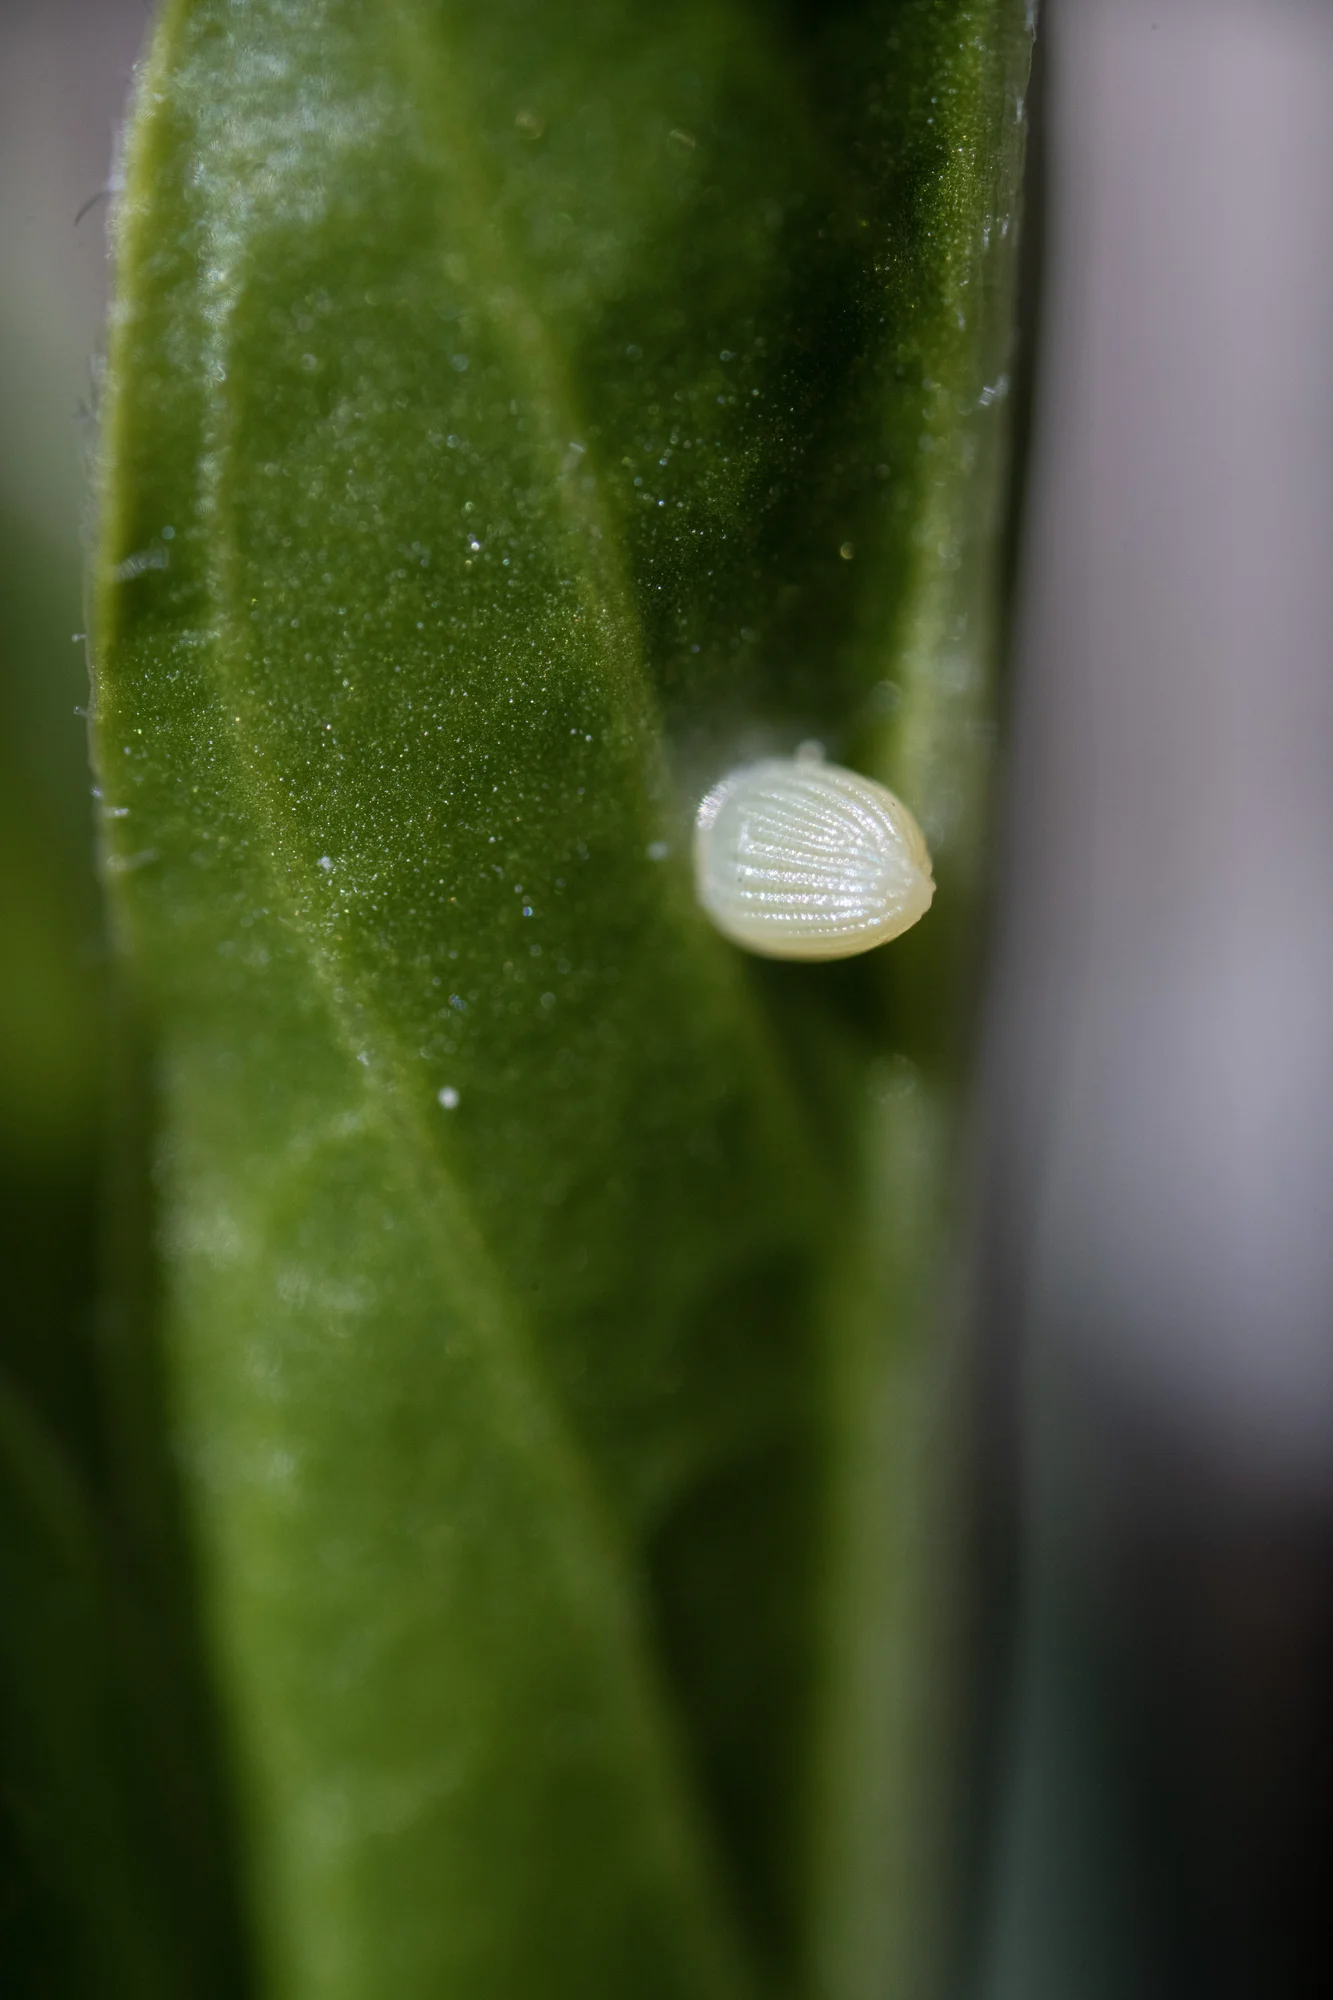
[[[803,752],[723,778],[695,818],[699,900],[765,958],[851,958],[931,908],[931,852],[901,798]]]

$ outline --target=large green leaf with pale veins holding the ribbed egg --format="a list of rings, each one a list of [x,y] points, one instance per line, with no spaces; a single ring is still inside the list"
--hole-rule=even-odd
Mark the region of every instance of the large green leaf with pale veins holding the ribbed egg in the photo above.
[[[96,740],[282,2000],[879,1990],[867,1508],[949,1186],[1027,40],[1015,0],[158,30]],[[689,822],[809,734],[919,812],[939,908],[757,966]]]

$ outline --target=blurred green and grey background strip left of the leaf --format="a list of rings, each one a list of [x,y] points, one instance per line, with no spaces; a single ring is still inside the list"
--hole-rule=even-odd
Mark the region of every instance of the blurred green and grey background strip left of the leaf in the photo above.
[[[116,1902],[112,1934],[138,1914],[130,1864],[100,1852],[116,1844],[116,1800],[88,1740],[110,1730],[126,1766],[144,1746],[100,1634],[70,1628],[58,1558],[32,1550],[46,1536],[72,1564],[84,1556],[48,1440],[84,1468],[114,1534],[96,1386],[112,1332],[98,1284],[112,1064],[82,716],[106,200],[80,210],[106,188],[146,26],[142,0],[0,0],[0,1988],[24,1994],[68,1990],[78,1928],[34,1854],[50,1880],[76,1874],[90,1900]],[[52,1630],[68,1670],[42,1706],[24,1654],[46,1658]],[[62,1796],[34,1824],[26,1808],[52,1772]]]

